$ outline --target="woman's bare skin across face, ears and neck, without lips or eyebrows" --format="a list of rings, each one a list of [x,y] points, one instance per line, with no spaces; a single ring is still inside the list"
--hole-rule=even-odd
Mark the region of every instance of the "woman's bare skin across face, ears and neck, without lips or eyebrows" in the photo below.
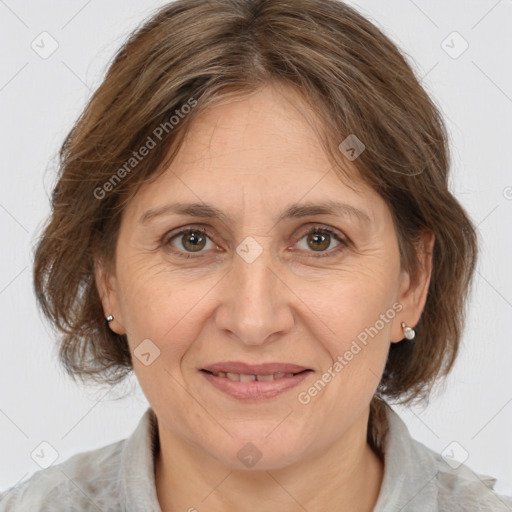
[[[164,512],[253,511],[262,503],[270,512],[339,510],[340,503],[364,512],[377,501],[383,463],[366,442],[369,404],[390,344],[404,337],[401,322],[414,326],[420,318],[433,237],[419,245],[423,270],[413,282],[400,267],[389,208],[348,160],[355,187],[334,173],[313,118],[295,92],[275,86],[210,107],[171,166],[127,205],[114,271],[98,261],[110,327],[127,334],[132,351],[147,338],[160,350],[149,366],[137,357],[133,363],[158,418],[155,475]],[[323,214],[274,221],[289,204],[329,199],[369,220]],[[213,204],[230,220],[168,214],[139,222],[174,201]],[[348,238],[340,252],[335,237],[324,245],[308,237],[316,224]],[[211,230],[200,252],[187,234],[160,243],[191,225]],[[236,252],[248,236],[262,249],[252,263]],[[397,303],[400,312],[378,335],[300,403],[298,393]],[[228,360],[314,371],[277,397],[240,401],[198,371]],[[251,468],[237,457],[247,442],[262,454]]]

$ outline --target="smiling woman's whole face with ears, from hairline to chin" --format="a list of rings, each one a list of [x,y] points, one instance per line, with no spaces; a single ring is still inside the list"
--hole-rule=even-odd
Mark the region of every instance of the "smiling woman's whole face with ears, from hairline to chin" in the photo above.
[[[337,177],[306,108],[269,87],[202,113],[127,206],[102,289],[159,428],[232,468],[365,436],[390,342],[421,313],[388,207],[348,160],[357,191]]]

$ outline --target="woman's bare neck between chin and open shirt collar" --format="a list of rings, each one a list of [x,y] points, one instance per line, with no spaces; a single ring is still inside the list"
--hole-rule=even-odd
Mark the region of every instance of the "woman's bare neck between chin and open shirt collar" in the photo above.
[[[155,483],[162,512],[371,512],[384,465],[367,444],[369,409],[323,453],[277,470],[233,470],[158,422]],[[363,428],[361,428],[363,427]],[[264,501],[262,501],[264,500]],[[340,507],[341,505],[341,507]]]

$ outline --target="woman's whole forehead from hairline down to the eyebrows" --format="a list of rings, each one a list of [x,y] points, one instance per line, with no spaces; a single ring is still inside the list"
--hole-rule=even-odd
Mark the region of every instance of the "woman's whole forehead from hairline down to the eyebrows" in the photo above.
[[[211,106],[191,123],[169,168],[145,185],[133,207],[173,201],[209,203],[229,210],[277,213],[275,205],[298,202],[366,203],[378,214],[378,195],[345,160],[348,186],[335,171],[319,136],[321,120],[301,96],[266,87]],[[355,185],[355,189],[354,189]]]

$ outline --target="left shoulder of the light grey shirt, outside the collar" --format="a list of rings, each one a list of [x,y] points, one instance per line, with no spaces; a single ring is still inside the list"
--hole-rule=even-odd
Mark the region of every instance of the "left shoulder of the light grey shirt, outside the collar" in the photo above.
[[[0,512],[115,510],[126,440],[73,455],[0,494]]]

